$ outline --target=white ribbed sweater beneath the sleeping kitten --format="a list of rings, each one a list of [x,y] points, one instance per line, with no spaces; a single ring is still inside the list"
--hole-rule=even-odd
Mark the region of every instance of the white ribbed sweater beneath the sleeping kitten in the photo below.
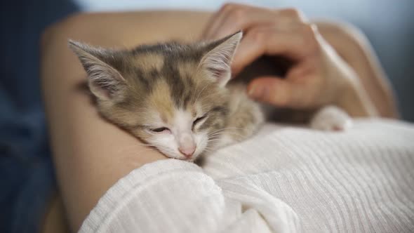
[[[203,168],[166,159],[136,169],[80,232],[414,232],[414,126],[267,125]]]

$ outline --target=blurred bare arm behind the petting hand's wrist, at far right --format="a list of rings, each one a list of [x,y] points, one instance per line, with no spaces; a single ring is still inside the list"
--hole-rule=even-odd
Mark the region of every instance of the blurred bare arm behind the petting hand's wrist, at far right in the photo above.
[[[361,30],[344,22],[314,22],[323,38],[354,69],[378,114],[399,118],[392,84],[380,65],[372,46]]]

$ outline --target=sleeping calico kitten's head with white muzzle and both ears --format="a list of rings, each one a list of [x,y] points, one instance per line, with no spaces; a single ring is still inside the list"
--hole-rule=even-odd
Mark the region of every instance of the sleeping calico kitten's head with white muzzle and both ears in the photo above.
[[[69,41],[98,109],[163,154],[192,161],[218,140],[229,114],[230,63],[241,32],[218,41],[96,48]]]

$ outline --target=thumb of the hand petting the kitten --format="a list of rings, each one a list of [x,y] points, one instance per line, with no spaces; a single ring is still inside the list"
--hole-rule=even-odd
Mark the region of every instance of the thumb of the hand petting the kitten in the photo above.
[[[253,79],[247,88],[248,95],[258,101],[277,107],[300,106],[298,86],[276,76]]]

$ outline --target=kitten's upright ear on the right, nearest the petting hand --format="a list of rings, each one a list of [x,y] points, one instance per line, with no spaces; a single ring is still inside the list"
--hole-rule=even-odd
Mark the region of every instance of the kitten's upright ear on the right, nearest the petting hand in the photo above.
[[[230,65],[242,36],[243,33],[239,31],[208,44],[210,50],[201,59],[203,69],[210,73],[219,86],[225,86],[232,76]]]

